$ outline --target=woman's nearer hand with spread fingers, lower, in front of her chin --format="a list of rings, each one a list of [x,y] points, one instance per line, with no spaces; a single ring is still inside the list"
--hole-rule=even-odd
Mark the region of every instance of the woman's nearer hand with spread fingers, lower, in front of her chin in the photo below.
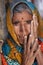
[[[23,56],[24,65],[32,65],[34,63],[34,60],[35,60],[36,55],[38,53],[37,39],[35,40],[32,48],[31,48],[31,42],[30,41],[31,41],[31,36],[30,36],[30,39],[28,41],[27,47],[24,44],[24,56]]]

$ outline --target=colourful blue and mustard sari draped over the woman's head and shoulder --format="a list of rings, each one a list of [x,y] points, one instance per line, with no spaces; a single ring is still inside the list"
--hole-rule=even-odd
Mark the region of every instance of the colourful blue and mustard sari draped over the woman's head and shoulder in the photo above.
[[[7,29],[8,29],[8,36],[2,46],[2,65],[21,65],[22,63],[22,53],[23,47],[19,44],[17,36],[13,30],[12,25],[12,10],[13,8],[19,3],[25,3],[30,7],[32,13],[37,15],[37,10],[35,6],[31,2],[27,2],[25,0],[19,1],[16,4],[13,4],[8,8],[7,11]],[[38,17],[38,15],[37,15]],[[33,65],[37,65],[37,61],[35,60]]]

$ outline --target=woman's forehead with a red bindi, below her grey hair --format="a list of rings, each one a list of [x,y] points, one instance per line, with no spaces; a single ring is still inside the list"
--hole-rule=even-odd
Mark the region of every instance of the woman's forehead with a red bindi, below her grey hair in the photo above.
[[[21,13],[15,13],[14,16],[13,16],[13,19],[17,20],[17,19],[30,19],[32,20],[32,15],[29,14],[27,11],[22,11]]]

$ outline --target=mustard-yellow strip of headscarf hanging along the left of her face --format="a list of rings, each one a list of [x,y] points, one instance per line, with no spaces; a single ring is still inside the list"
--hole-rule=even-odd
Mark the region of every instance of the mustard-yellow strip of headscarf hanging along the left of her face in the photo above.
[[[18,45],[20,45],[19,41],[17,39],[17,36],[14,33],[13,24],[12,24],[10,16],[11,16],[11,12],[10,12],[10,8],[9,8],[8,11],[7,11],[7,16],[6,16],[6,18],[7,18],[7,28],[8,28],[9,33],[11,34],[12,38],[17,42]]]

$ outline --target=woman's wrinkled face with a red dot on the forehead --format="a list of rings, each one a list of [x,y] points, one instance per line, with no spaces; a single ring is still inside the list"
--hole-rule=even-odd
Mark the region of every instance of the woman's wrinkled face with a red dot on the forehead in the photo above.
[[[31,20],[32,15],[29,14],[27,11],[15,13],[13,16],[12,23],[20,44],[23,44],[25,39],[24,37],[30,34]]]

